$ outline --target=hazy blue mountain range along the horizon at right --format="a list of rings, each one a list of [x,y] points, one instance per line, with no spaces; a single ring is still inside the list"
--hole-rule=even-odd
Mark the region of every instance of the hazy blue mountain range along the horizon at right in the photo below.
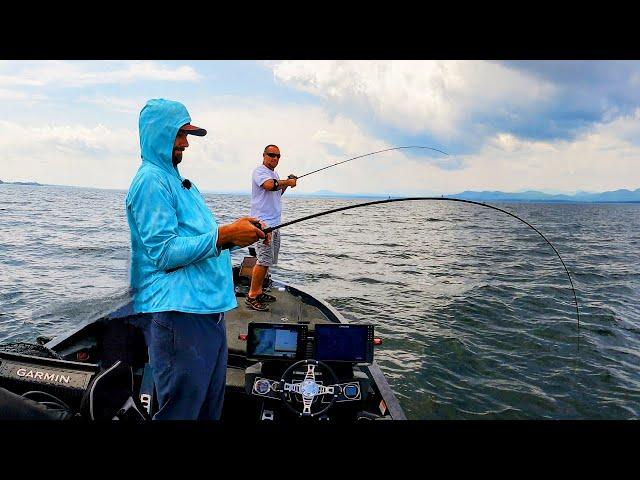
[[[332,192],[330,190],[319,190],[314,192],[314,196],[332,196],[332,197],[368,197],[368,198],[385,198],[389,195],[380,194],[361,194],[349,195],[344,193]],[[418,195],[397,195],[392,197],[418,196]],[[439,195],[421,195],[421,196],[439,196]],[[483,191],[473,192],[464,191],[454,195],[444,195],[449,198],[461,198],[464,200],[474,201],[511,201],[511,202],[640,202],[640,188],[635,190],[614,190],[603,193],[578,192],[574,195],[566,194],[550,194],[529,190],[526,192],[497,192]]]

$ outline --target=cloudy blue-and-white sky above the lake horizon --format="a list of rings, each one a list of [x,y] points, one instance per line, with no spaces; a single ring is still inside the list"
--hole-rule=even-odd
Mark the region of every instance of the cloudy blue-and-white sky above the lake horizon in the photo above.
[[[640,187],[639,61],[0,61],[0,180],[129,187],[138,117],[182,102],[180,164],[200,190],[244,192],[262,151],[289,194],[447,195]]]

